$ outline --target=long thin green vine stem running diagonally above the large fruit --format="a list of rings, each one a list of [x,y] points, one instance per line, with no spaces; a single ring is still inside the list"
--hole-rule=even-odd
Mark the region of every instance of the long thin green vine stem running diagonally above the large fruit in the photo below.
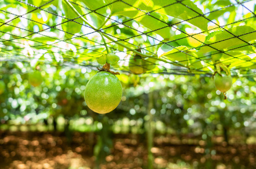
[[[127,48],[127,50],[130,50],[130,51],[134,52],[135,54],[140,55],[141,57],[151,57],[152,59],[159,60],[159,61],[163,61],[164,63],[168,63],[168,61],[166,61],[166,60],[163,60],[163,59],[160,59],[160,58],[157,58],[157,57],[152,57],[152,56],[150,56],[150,55],[142,54],[141,52],[138,52],[138,51],[136,51],[136,50],[133,50],[132,48],[130,48],[130,47],[124,45],[123,43],[120,43],[120,42],[118,42],[118,41],[115,41],[114,39],[112,39],[111,37],[109,37],[109,35],[106,35],[105,33],[102,33],[100,30],[98,30],[98,29],[94,28],[92,25],[90,25],[90,24],[88,23],[88,21],[87,21],[83,16],[81,16],[81,15],[79,14],[79,12],[72,6],[72,4],[71,4],[70,2],[68,2],[68,0],[64,0],[64,1],[67,3],[68,6],[70,6],[70,8],[76,13],[77,16],[80,16],[80,18],[81,18],[86,24],[88,24],[92,29],[96,30],[96,32],[98,32],[99,34],[101,34],[101,36],[103,35],[104,37],[106,37],[106,38],[109,39],[110,41],[116,43],[116,44],[119,45],[119,46],[122,46],[122,47],[124,47],[124,48]],[[105,20],[105,22],[107,22],[107,20]],[[104,22],[103,24],[105,24],[105,22]],[[100,29],[100,28],[101,28],[101,26],[99,26],[99,29]]]

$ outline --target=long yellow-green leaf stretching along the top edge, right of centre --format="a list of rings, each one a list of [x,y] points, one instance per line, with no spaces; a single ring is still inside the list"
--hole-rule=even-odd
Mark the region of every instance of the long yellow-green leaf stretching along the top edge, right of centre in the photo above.
[[[203,12],[194,5],[193,2],[185,0],[177,2],[176,0],[124,0],[124,2],[116,2],[115,0],[105,0],[107,4],[110,4],[111,14],[116,15],[124,11],[132,11],[135,8],[139,8],[144,11],[154,11],[159,14],[169,15],[181,20],[187,20],[188,23],[197,26],[202,30],[207,31],[207,23],[209,20],[202,16]],[[114,2],[114,3],[113,3]],[[151,15],[151,13],[150,13]],[[194,17],[194,18],[193,18]],[[193,18],[193,19],[192,19]],[[189,20],[188,20],[189,19]]]

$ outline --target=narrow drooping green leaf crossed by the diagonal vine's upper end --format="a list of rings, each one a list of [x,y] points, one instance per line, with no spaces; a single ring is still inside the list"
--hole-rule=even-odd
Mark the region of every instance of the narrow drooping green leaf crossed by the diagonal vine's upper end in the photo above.
[[[65,12],[65,17],[68,19],[75,19],[78,16],[76,15],[76,13],[67,5],[67,3],[63,2],[62,3],[63,6],[63,10]],[[79,6],[74,5],[74,7],[76,8],[76,10],[82,14],[81,9],[79,8]],[[67,21],[67,19],[63,19],[62,22]],[[83,20],[82,19],[75,19],[74,21],[83,24]],[[67,23],[62,24],[62,29],[65,32],[65,37],[70,39],[73,37],[73,34],[80,32],[82,25],[81,24],[77,24],[73,21],[67,21]],[[72,33],[72,34],[70,34]]]

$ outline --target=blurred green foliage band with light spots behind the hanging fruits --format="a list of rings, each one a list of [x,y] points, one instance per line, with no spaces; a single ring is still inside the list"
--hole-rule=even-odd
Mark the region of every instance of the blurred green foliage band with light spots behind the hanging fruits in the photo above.
[[[84,101],[84,88],[96,73],[90,68],[59,68],[40,65],[44,82],[33,87],[27,63],[1,63],[1,79],[6,90],[1,94],[1,123],[35,124],[44,119],[62,117],[71,120],[72,128],[79,131],[97,131],[102,122]],[[193,133],[207,136],[229,131],[252,134],[256,127],[253,79],[233,77],[233,86],[223,100],[216,91],[211,77],[180,75],[117,75],[123,86],[122,101],[112,113],[106,114],[113,132],[143,133],[147,115],[149,92],[153,93],[155,130],[160,134]],[[85,118],[84,120],[81,118]],[[96,123],[96,128],[89,127]],[[97,124],[101,123],[101,124]],[[84,126],[84,127],[79,127]],[[88,126],[88,127],[86,127]],[[97,129],[98,128],[98,129]],[[127,128],[127,129],[125,129]],[[210,130],[208,130],[210,129]]]

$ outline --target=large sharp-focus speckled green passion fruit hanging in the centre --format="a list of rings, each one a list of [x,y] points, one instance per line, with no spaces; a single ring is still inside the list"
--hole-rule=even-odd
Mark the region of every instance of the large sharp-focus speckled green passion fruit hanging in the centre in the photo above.
[[[122,98],[122,84],[110,72],[98,72],[86,84],[85,103],[96,113],[105,114],[114,110]]]

